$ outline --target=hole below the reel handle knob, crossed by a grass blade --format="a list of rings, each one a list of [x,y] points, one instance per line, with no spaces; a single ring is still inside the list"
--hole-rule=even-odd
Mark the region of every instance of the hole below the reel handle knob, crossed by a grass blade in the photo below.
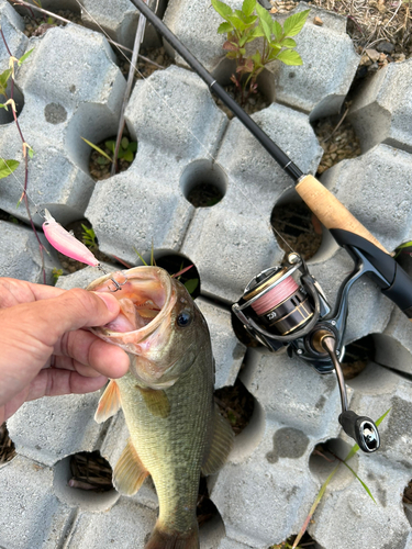
[[[344,460],[349,453],[350,448],[352,445],[346,444],[341,438],[332,438],[326,442],[316,445],[309,458],[309,470],[312,475],[323,483],[339,463],[337,458]],[[348,462],[356,473],[358,471],[358,456],[355,455]],[[344,464],[341,464],[329,485],[334,490],[342,490],[348,486],[354,480],[358,482],[355,475]]]

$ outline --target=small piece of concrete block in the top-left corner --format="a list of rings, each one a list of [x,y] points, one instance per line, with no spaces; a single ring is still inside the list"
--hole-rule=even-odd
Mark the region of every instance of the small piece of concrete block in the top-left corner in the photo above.
[[[24,21],[7,0],[0,1],[0,23],[5,42],[18,59],[24,54],[29,38],[23,34]],[[0,74],[9,68],[9,54],[3,40],[0,44]],[[3,102],[3,101],[1,101]]]

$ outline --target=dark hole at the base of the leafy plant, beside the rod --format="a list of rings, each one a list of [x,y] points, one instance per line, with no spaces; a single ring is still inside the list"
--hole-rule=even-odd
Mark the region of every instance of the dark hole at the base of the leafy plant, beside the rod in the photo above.
[[[256,92],[249,92],[249,88],[248,90],[243,90],[242,87],[240,88],[231,80],[232,75],[235,75],[235,63],[232,59],[223,58],[214,69],[213,77],[224,87],[227,93],[241,104],[247,114],[261,111],[275,101],[275,78],[269,70],[264,69],[258,76]],[[216,105],[227,115],[227,117],[233,119],[232,111],[213,93],[212,97]]]

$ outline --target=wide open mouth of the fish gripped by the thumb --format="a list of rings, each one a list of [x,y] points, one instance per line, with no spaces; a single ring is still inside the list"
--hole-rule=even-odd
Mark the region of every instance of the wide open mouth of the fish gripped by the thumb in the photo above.
[[[122,283],[116,292],[112,292],[113,277]],[[114,321],[92,328],[92,332],[132,352],[135,344],[143,341],[169,318],[176,303],[171,278],[159,267],[135,267],[110,273],[94,280],[87,289],[112,292],[121,307]]]

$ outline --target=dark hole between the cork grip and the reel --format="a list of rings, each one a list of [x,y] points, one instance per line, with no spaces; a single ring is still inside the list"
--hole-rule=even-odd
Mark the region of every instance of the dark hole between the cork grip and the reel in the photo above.
[[[312,258],[322,244],[322,225],[304,202],[288,200],[286,193],[275,205],[270,223],[281,249]],[[289,247],[289,246],[290,247]]]

